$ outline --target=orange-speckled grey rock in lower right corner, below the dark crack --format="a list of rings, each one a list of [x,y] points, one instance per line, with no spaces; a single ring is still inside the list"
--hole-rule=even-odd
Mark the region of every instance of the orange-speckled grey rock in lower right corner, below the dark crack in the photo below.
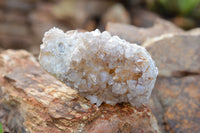
[[[162,132],[199,132],[200,76],[158,77],[150,106]]]

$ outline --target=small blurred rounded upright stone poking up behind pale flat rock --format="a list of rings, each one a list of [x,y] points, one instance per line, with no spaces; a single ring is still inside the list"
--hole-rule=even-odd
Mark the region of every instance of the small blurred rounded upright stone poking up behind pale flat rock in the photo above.
[[[118,22],[130,24],[130,15],[122,4],[115,4],[108,9],[102,17],[102,23],[105,25],[107,22]]]

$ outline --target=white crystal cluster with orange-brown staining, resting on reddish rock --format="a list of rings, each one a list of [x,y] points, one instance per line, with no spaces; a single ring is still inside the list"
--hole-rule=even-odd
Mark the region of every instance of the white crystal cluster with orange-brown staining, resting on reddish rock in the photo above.
[[[146,103],[158,70],[145,48],[107,31],[52,28],[40,46],[40,64],[91,103]]]

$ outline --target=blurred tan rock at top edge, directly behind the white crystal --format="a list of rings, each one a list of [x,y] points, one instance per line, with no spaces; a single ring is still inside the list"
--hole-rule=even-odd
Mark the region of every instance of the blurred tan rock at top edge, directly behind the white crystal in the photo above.
[[[88,19],[100,16],[111,5],[112,1],[64,0],[54,5],[52,14],[58,20],[67,20],[75,28],[82,28]]]

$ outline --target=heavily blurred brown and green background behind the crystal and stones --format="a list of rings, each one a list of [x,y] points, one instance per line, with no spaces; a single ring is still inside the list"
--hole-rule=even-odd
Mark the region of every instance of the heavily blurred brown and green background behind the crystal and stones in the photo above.
[[[157,14],[190,29],[198,26],[199,0],[0,0],[0,47],[38,55],[45,31],[99,28],[107,22],[151,27]],[[151,11],[157,12],[157,14]]]

